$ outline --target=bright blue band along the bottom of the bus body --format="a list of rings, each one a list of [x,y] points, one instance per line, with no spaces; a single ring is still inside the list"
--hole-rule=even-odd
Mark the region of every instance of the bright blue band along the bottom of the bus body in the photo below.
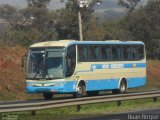
[[[47,84],[47,82],[46,82]],[[128,88],[140,87],[146,84],[146,77],[128,78],[127,85]],[[64,84],[60,86],[27,86],[26,90],[28,93],[43,93],[51,92],[51,90],[57,91],[57,93],[72,93],[76,91],[77,81],[65,81]],[[95,90],[112,90],[118,89],[119,78],[117,79],[103,79],[103,80],[87,80],[86,81],[86,91]]]

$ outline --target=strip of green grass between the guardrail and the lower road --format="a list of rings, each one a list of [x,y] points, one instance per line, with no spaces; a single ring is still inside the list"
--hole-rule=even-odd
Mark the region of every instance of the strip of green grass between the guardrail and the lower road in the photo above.
[[[153,99],[148,98],[123,101],[122,105],[119,107],[117,106],[116,102],[82,105],[79,112],[77,112],[76,106],[72,106],[40,110],[36,112],[36,115],[31,115],[31,112],[15,112],[10,114],[18,115],[18,120],[66,120],[94,115],[97,116],[102,114],[142,110],[144,108],[152,109],[158,107],[160,107],[160,101],[154,103]]]

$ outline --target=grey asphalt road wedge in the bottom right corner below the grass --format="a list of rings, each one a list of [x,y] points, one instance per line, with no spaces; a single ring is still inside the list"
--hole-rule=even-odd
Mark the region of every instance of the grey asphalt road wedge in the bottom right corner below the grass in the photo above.
[[[73,120],[160,120],[160,109],[98,115],[96,117],[79,118]]]

